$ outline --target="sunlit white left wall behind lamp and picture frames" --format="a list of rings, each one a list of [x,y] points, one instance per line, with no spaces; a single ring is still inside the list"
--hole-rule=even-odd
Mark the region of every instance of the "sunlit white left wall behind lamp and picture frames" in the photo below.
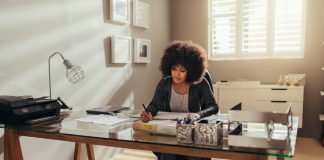
[[[109,0],[0,0],[0,95],[49,95],[47,60],[59,51],[86,74],[72,85],[61,59],[52,58],[52,95],[74,110],[106,104],[137,109],[148,103],[160,78],[158,64],[170,32],[169,0],[145,1],[151,5],[150,29],[111,22]],[[111,35],[150,39],[151,63],[111,64]],[[3,138],[0,142],[2,158]],[[27,160],[73,156],[73,143],[34,138],[22,138],[21,143]],[[95,148],[97,159],[120,151]]]

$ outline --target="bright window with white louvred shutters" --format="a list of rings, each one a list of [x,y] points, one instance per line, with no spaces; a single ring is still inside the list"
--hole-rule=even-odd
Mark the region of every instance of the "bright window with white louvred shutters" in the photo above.
[[[210,58],[301,58],[306,0],[210,0]]]

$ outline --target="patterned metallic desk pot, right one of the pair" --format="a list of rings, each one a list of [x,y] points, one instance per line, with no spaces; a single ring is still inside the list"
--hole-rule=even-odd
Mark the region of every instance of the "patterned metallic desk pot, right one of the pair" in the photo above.
[[[195,143],[199,145],[217,146],[222,138],[222,122],[208,123],[200,121],[195,127]]]

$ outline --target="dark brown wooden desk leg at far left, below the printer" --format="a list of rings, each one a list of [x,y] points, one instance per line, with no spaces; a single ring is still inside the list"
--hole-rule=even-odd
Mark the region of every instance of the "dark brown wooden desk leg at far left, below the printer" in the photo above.
[[[4,159],[5,160],[23,160],[19,136],[17,132],[5,128],[4,140]]]

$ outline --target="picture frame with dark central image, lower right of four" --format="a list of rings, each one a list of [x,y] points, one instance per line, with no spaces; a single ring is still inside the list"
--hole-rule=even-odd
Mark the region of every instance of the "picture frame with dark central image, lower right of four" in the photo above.
[[[134,62],[151,63],[151,41],[148,39],[135,38]]]

